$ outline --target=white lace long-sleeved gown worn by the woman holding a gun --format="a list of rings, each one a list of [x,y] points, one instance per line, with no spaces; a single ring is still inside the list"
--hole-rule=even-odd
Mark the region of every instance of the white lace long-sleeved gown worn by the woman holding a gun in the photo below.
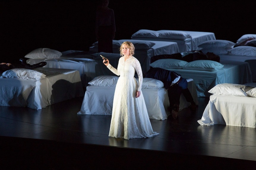
[[[120,57],[117,69],[110,64],[107,67],[114,74],[120,75],[114,94],[108,136],[132,139],[158,135],[152,129],[141,92],[143,76],[138,59],[132,56],[124,61],[124,57]],[[134,77],[135,70],[138,74],[139,82]],[[138,98],[136,98],[136,90],[140,91],[140,97]]]

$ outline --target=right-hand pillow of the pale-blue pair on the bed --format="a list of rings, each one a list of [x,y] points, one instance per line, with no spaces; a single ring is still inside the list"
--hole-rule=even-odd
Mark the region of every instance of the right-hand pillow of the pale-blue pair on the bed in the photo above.
[[[217,61],[211,60],[195,60],[185,64],[182,68],[189,70],[217,71],[222,69],[224,65]]]

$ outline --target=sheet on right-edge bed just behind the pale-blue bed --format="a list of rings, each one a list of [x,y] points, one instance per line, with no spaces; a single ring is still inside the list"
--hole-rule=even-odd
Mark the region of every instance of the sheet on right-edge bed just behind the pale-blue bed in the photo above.
[[[252,81],[256,82],[256,56],[236,56],[233,54],[219,54],[219,57],[223,61],[248,62],[252,72]]]

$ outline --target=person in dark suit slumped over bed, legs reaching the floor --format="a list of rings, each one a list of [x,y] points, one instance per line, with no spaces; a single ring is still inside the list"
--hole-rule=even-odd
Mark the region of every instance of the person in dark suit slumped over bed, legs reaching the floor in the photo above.
[[[186,100],[191,103],[191,109],[195,110],[196,104],[187,88],[188,82],[178,73],[155,67],[149,69],[146,72],[145,77],[157,79],[164,83],[164,86],[168,91],[170,110],[172,111],[173,119],[176,119],[178,116],[181,93],[183,93]]]

